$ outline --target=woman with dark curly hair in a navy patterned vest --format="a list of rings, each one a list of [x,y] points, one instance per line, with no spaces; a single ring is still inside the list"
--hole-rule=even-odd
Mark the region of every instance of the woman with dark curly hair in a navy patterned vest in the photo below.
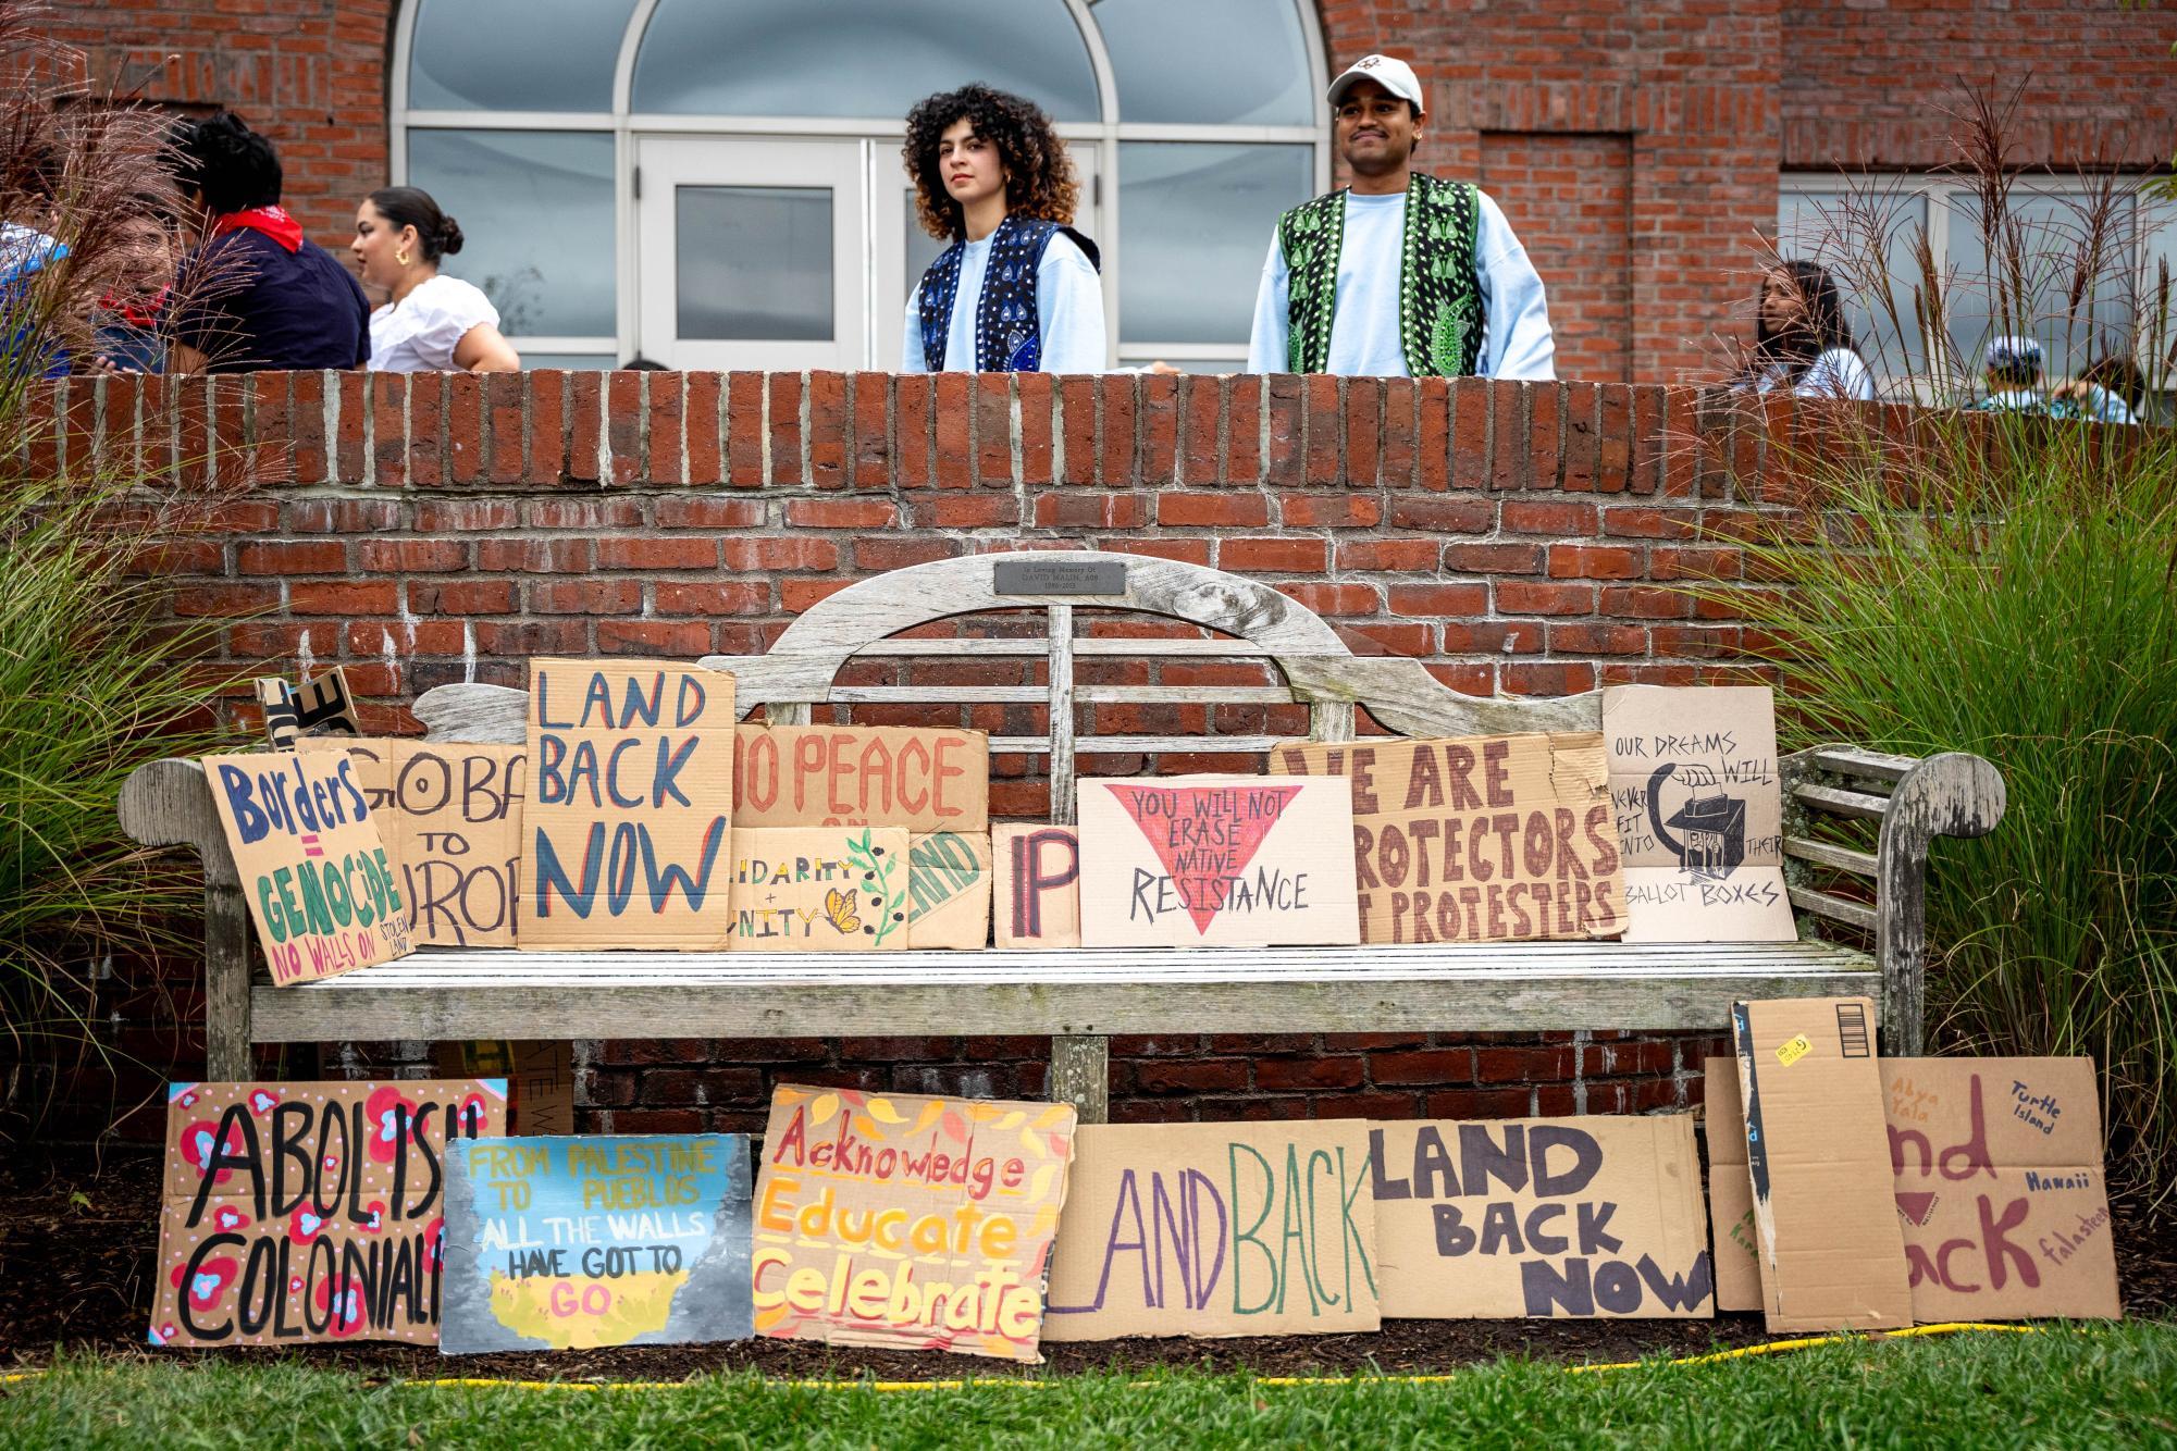
[[[908,113],[901,157],[923,226],[951,246],[908,298],[899,370],[1102,372],[1097,248],[1071,226],[1080,185],[1051,117],[964,85]]]

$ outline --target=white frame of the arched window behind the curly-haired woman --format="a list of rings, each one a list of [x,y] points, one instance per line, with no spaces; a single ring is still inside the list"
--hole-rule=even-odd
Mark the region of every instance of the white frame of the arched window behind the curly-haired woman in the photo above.
[[[908,4],[912,0],[899,0]],[[1010,0],[1008,0],[1010,2]],[[1058,122],[1058,135],[1067,139],[1069,146],[1093,146],[1097,150],[1097,187],[1102,196],[1095,198],[1095,211],[1099,218],[1099,248],[1104,252],[1104,315],[1119,322],[1108,331],[1106,342],[1106,365],[1117,365],[1121,361],[1149,361],[1156,357],[1191,357],[1191,359],[1234,359],[1234,372],[1245,365],[1247,344],[1152,344],[1123,339],[1123,320],[1119,318],[1119,270],[1126,265],[1123,248],[1119,244],[1121,220],[1119,220],[1119,144],[1121,141],[1217,141],[1217,144],[1245,144],[1245,141],[1271,141],[1284,146],[1311,146],[1315,154],[1315,191],[1330,189],[1330,102],[1326,91],[1330,87],[1330,74],[1326,67],[1324,33],[1321,22],[1315,13],[1313,0],[1278,0],[1280,4],[1291,4],[1300,13],[1300,39],[1302,50],[1306,50],[1308,65],[1308,96],[1315,111],[1315,120],[1308,126],[1180,126],[1180,124],[1145,124],[1128,122],[1119,113],[1119,83],[1112,72],[1110,52],[1104,46],[1104,33],[1095,24],[1093,2],[1095,0],[1060,0],[1067,13],[1073,17],[1080,30],[1082,44],[1088,50],[1088,67],[1095,76],[1097,107],[1104,120],[1099,122]],[[616,365],[620,359],[634,357],[638,344],[638,298],[640,298],[640,270],[636,257],[636,196],[634,196],[634,170],[636,170],[636,137],[638,135],[664,135],[664,133],[701,133],[716,137],[760,137],[760,135],[838,135],[838,137],[866,137],[873,141],[906,141],[908,128],[906,117],[884,115],[884,117],[775,117],[775,115],[660,115],[653,111],[631,111],[634,76],[636,76],[636,54],[642,46],[642,35],[651,24],[651,15],[657,11],[660,0],[636,0],[636,9],[627,17],[627,30],[620,35],[620,52],[614,63],[612,76],[612,109],[610,111],[435,111],[435,109],[409,109],[409,65],[416,46],[416,11],[422,0],[401,0],[401,13],[394,20],[394,46],[392,46],[392,85],[390,91],[390,146],[392,146],[392,185],[407,183],[407,148],[409,131],[588,131],[588,133],[610,133],[614,139],[612,148],[612,202],[614,202],[614,313],[616,333],[612,337],[509,337],[516,348],[529,348],[536,352],[594,352],[610,359],[605,365]],[[875,237],[864,239],[864,265],[873,265],[873,252],[877,248]],[[882,324],[882,320],[875,320]],[[875,370],[890,370],[893,361],[888,357],[886,342],[890,342],[890,328],[873,326],[869,328],[869,344],[864,357]],[[884,342],[880,342],[884,339]],[[1121,346],[1123,344],[1123,346]]]

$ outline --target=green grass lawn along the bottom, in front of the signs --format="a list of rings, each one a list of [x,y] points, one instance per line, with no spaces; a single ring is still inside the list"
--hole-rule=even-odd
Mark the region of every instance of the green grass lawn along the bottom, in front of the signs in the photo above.
[[[457,1364],[457,1362],[453,1362]],[[932,1357],[932,1373],[969,1366]],[[294,1364],[65,1360],[0,1394],[7,1447],[2116,1447],[2177,1444],[2177,1325],[1829,1344],[1446,1381],[1065,1377],[960,1390],[753,1375],[664,1390],[366,1384]]]

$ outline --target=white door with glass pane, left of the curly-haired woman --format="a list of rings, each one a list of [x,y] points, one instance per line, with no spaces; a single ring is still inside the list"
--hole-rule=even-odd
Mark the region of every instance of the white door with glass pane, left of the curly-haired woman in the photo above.
[[[864,152],[856,139],[640,137],[640,352],[679,370],[862,368]]]

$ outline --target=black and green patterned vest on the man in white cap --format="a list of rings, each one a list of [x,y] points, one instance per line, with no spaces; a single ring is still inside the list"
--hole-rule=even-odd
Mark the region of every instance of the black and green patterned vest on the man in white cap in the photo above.
[[[1398,276],[1398,335],[1415,379],[1465,376],[1483,355],[1483,294],[1474,281],[1478,191],[1465,181],[1413,174],[1406,246]],[[1345,191],[1317,196],[1278,218],[1289,274],[1287,363],[1324,372],[1339,305]]]

